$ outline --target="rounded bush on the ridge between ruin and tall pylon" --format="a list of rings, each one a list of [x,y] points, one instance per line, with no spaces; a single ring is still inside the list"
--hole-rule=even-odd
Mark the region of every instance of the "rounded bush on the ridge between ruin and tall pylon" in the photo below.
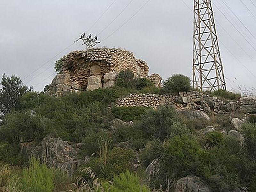
[[[163,84],[165,93],[179,93],[180,91],[188,92],[191,88],[189,77],[181,74],[175,74],[172,77],[168,77]]]

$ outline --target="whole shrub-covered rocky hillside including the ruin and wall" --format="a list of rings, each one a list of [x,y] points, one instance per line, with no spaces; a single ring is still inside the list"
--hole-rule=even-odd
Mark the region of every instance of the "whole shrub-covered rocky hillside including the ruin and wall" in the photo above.
[[[56,70],[40,93],[2,77],[0,190],[256,191],[255,97],[183,75],[160,84],[115,49],[71,52]]]

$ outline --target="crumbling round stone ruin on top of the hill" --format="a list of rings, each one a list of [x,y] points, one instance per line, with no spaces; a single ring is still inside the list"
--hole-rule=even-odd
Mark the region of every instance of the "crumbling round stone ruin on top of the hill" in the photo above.
[[[157,87],[161,86],[161,76],[148,76],[147,63],[136,59],[132,52],[123,49],[96,48],[74,51],[64,56],[61,62],[61,74],[54,77],[47,91],[50,95],[111,87],[117,74],[127,69],[133,72],[135,78],[145,77]]]

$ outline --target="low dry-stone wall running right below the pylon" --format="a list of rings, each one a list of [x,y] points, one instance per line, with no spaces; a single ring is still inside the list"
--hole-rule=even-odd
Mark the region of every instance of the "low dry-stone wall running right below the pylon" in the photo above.
[[[117,107],[144,106],[157,108],[160,105],[171,104],[176,109],[201,110],[206,113],[225,113],[240,110],[242,113],[256,113],[256,99],[254,97],[241,98],[236,101],[223,101],[202,92],[180,92],[172,94],[129,94],[116,101]]]

